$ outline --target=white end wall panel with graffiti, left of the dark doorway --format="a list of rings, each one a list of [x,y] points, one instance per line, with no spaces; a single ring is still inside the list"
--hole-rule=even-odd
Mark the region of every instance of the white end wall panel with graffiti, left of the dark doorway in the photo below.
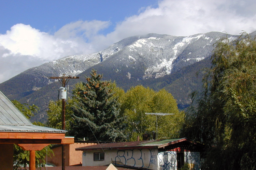
[[[177,160],[176,152],[167,151],[161,152],[158,154],[159,166],[162,170],[176,170],[177,169]]]

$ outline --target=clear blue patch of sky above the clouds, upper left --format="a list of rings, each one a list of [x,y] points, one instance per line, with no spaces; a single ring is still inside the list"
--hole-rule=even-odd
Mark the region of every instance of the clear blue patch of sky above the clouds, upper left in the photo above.
[[[110,20],[113,25],[104,34],[113,31],[116,22],[138,14],[147,7],[156,7],[157,0],[1,0],[0,33],[18,23],[30,25],[43,32],[54,33],[64,25],[77,20]]]

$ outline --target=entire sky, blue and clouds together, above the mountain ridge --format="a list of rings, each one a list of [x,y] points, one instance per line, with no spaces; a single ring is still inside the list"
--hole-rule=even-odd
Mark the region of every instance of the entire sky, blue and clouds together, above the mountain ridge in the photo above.
[[[0,0],[0,83],[147,33],[256,30],[255,0]]]

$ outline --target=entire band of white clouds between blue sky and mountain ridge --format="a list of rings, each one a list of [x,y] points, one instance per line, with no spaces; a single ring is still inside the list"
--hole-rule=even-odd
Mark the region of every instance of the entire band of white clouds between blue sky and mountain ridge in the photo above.
[[[147,33],[250,33],[256,30],[255,7],[255,0],[161,0],[156,8],[149,6],[139,10],[138,15],[124,18],[106,35],[99,32],[108,28],[110,21],[79,20],[63,26],[54,35],[16,24],[6,34],[0,34],[0,61],[34,67],[68,55],[97,52],[123,38]],[[6,64],[0,62],[1,68],[2,65]],[[15,75],[10,71],[8,74]],[[9,78],[0,75],[0,82]]]

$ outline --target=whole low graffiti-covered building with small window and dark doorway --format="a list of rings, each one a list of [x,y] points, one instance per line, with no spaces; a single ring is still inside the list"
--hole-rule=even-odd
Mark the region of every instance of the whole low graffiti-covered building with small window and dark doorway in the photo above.
[[[184,164],[201,168],[203,145],[187,138],[102,143],[76,148],[83,151],[83,166],[136,167],[151,170],[177,170]]]

